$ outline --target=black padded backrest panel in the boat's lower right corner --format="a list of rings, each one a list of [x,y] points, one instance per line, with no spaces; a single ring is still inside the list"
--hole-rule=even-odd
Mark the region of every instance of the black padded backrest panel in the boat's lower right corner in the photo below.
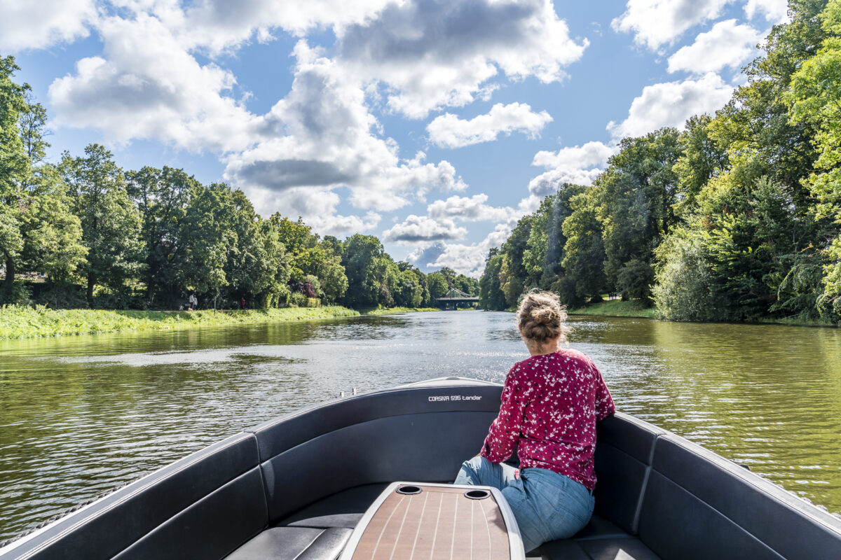
[[[673,434],[657,440],[639,532],[663,557],[841,557],[839,527],[715,453]]]

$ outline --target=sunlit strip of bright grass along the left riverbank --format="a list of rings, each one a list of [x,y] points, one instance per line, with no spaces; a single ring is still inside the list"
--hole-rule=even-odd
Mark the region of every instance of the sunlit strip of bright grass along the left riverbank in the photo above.
[[[43,306],[36,308],[3,306],[0,307],[0,340],[300,321],[357,315],[359,315],[357,311],[341,306],[285,307],[245,311],[105,311],[98,309],[55,311]]]

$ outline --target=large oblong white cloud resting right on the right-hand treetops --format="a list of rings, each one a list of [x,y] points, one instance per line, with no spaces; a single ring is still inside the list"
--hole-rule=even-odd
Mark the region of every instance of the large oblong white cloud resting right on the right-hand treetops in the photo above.
[[[621,123],[611,121],[607,129],[618,139],[642,136],[661,127],[682,128],[692,115],[713,113],[723,107],[732,93],[733,86],[714,73],[697,80],[646,86],[631,103],[627,118]]]

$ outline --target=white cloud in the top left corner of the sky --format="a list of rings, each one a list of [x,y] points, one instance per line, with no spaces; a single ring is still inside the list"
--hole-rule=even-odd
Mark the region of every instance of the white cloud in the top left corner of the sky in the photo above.
[[[0,52],[45,49],[87,37],[93,0],[0,0]]]

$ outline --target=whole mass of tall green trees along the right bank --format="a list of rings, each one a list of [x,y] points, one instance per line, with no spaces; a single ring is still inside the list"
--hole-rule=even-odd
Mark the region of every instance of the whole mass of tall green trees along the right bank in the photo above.
[[[841,0],[792,0],[715,115],[622,139],[592,186],[523,217],[480,306],[608,292],[675,320],[841,319]]]

